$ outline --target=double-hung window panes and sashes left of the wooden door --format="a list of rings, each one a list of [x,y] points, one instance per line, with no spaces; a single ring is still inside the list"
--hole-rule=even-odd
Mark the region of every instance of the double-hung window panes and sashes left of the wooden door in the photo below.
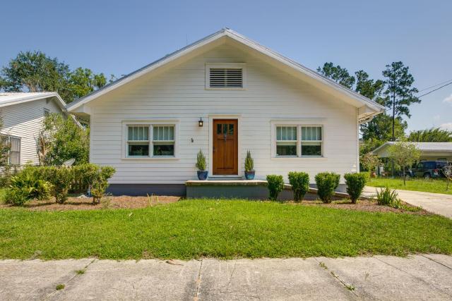
[[[126,125],[127,157],[174,157],[175,125]]]

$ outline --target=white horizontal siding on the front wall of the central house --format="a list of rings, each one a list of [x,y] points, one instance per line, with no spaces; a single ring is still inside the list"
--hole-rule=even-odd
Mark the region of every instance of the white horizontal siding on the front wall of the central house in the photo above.
[[[246,63],[245,90],[206,90],[206,62]],[[314,182],[321,171],[357,171],[357,111],[353,106],[227,45],[107,94],[92,102],[90,109],[90,160],[117,168],[111,183],[184,183],[195,179],[198,150],[208,159],[208,116],[213,113],[241,114],[239,164],[244,164],[250,150],[256,178],[307,171]],[[198,127],[200,117],[203,128]],[[179,159],[121,159],[121,122],[134,118],[179,120]],[[322,118],[327,157],[272,159],[270,121],[286,118]]]

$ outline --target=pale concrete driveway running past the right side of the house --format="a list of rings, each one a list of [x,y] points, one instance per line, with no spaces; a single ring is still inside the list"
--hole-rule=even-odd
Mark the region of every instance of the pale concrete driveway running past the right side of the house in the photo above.
[[[375,191],[376,188],[366,186],[364,195],[375,195]],[[408,204],[422,207],[427,211],[452,219],[452,195],[410,190],[397,190],[397,192],[400,199]]]

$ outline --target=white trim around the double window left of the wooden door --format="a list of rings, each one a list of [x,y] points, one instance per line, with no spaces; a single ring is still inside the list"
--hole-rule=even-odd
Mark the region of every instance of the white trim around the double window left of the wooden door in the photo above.
[[[148,142],[149,145],[149,156],[129,156],[128,145],[129,142],[139,142],[135,140],[127,140],[128,126],[147,125],[149,127],[148,140],[143,142]],[[159,125],[174,125],[174,156],[153,156],[153,126]],[[121,159],[123,160],[179,160],[179,133],[180,133],[180,121],[179,120],[169,120],[169,119],[152,119],[152,120],[125,120],[122,121],[122,154]]]

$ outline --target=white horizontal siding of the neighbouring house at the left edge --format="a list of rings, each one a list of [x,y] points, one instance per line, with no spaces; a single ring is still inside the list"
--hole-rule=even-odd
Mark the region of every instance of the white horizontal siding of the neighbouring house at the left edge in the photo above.
[[[61,113],[53,100],[37,99],[0,108],[4,126],[0,133],[20,137],[20,164],[39,164],[37,138],[42,130],[44,109]]]

